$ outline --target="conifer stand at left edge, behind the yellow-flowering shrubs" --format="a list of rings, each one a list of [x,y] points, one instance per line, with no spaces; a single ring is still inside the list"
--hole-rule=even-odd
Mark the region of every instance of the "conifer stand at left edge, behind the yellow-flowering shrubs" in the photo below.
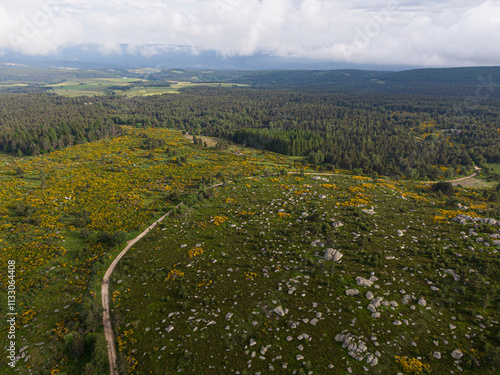
[[[90,98],[0,94],[0,151],[38,155],[121,134],[106,113]]]

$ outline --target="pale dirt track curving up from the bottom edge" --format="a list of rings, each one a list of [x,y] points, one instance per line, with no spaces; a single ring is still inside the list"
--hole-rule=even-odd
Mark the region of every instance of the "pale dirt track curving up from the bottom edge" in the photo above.
[[[177,205],[179,207],[182,203]],[[113,327],[111,325],[111,315],[109,311],[109,279],[111,277],[111,274],[115,270],[116,265],[118,262],[123,258],[123,256],[129,251],[129,249],[134,246],[137,241],[139,241],[142,237],[144,237],[146,234],[149,233],[151,229],[156,227],[158,223],[162,222],[163,219],[165,219],[168,215],[170,215],[172,211],[167,212],[165,215],[160,217],[158,220],[156,220],[153,224],[151,224],[144,232],[139,234],[136,238],[133,240],[130,240],[127,242],[127,246],[125,249],[122,250],[122,252],[113,260],[109,268],[107,269],[106,273],[104,274],[104,278],[102,279],[102,285],[101,285],[101,295],[102,295],[102,307],[104,309],[102,321],[104,324],[104,335],[106,337],[106,341],[108,342],[108,360],[109,360],[109,374],[110,375],[117,375],[118,372],[116,371],[116,363],[117,363],[117,356],[116,356],[116,348],[115,348],[115,336],[113,334]]]

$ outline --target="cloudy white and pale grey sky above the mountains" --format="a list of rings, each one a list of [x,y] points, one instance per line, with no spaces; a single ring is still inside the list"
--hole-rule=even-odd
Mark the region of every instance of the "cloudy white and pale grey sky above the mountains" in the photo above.
[[[0,0],[0,51],[267,54],[412,66],[500,65],[500,0]]]

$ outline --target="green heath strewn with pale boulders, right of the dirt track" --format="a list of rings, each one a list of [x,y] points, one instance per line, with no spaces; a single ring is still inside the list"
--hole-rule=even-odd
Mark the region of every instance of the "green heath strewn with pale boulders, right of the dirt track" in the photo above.
[[[499,226],[474,218],[498,204],[358,176],[203,194],[115,269],[122,373],[495,373]]]

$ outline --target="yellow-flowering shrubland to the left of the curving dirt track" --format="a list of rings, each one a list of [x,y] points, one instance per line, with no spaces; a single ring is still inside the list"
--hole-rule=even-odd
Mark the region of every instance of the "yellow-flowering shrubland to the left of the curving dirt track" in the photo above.
[[[0,156],[0,257],[16,262],[18,373],[107,371],[99,292],[119,245],[207,184],[262,174],[261,160],[293,168],[262,151],[199,148],[178,131],[124,132],[37,157]],[[0,277],[5,287],[5,270]]]

